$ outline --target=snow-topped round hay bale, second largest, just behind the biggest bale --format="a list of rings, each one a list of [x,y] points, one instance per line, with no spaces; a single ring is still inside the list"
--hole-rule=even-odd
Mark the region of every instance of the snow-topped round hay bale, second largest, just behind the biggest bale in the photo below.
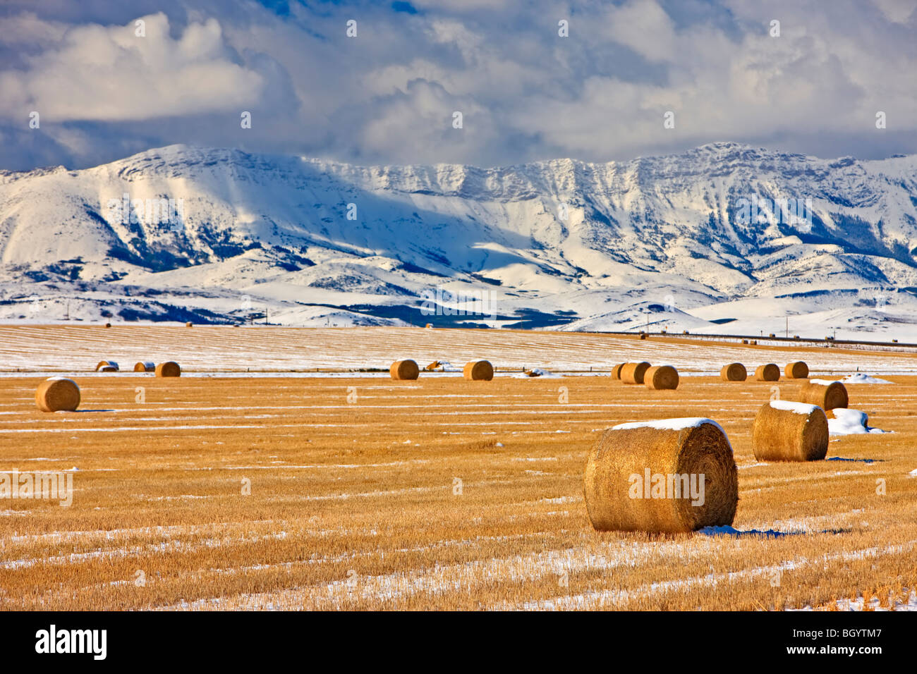
[[[761,405],[751,431],[759,461],[817,461],[828,453],[828,417],[807,403],[772,400]]]

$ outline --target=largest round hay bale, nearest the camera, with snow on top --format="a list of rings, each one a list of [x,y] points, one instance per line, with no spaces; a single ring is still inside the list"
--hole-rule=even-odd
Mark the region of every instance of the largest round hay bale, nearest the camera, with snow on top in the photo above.
[[[621,424],[592,446],[583,492],[600,531],[689,532],[732,524],[738,471],[710,419]]]

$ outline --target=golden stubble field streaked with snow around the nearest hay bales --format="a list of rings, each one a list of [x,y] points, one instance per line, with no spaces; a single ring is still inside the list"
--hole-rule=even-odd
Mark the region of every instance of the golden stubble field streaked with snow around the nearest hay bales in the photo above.
[[[57,414],[35,406],[42,377],[0,378],[0,470],[77,469],[70,507],[0,501],[0,607],[754,610],[917,587],[917,378],[847,386],[893,434],[761,463],[772,382],[649,391],[494,364],[493,381],[72,374],[80,411]],[[593,530],[602,431],[684,416],[729,436],[746,534]]]

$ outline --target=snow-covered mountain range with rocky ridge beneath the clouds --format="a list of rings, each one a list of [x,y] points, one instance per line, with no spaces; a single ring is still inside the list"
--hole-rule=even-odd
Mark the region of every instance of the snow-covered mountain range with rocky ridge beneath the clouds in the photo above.
[[[478,169],[176,145],[0,171],[0,251],[4,320],[757,334],[789,315],[884,338],[917,322],[917,156],[715,143]]]

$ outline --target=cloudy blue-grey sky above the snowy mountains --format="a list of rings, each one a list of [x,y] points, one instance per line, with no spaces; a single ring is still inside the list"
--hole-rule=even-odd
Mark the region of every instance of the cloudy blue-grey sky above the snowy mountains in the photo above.
[[[917,152],[915,34],[917,0],[5,0],[0,169],[171,143],[360,164],[716,140],[881,158]]]

